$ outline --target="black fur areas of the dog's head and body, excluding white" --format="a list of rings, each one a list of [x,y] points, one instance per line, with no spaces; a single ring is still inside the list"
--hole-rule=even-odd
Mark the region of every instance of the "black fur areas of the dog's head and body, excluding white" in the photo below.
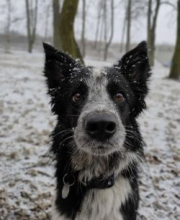
[[[61,214],[75,219],[80,211],[88,188],[75,181],[66,199],[62,199],[63,176],[74,171],[70,161],[72,157],[73,127],[77,126],[78,118],[87,101],[88,86],[86,80],[91,74],[91,68],[82,66],[69,55],[55,50],[44,44],[45,77],[47,78],[48,93],[51,96],[52,111],[58,116],[57,125],[52,133],[53,144],[51,151],[56,160],[57,197],[56,208]],[[135,152],[143,158],[143,140],[136,122],[137,116],[146,108],[144,98],[148,93],[147,82],[150,68],[147,57],[146,43],[142,42],[128,52],[117,65],[106,68],[107,91],[111,99],[117,91],[121,91],[125,103],[115,103],[122,123],[127,128],[124,146],[127,151]],[[78,104],[72,104],[71,97],[81,91],[83,99]],[[115,152],[109,157],[109,169],[118,166],[121,155]],[[133,189],[133,194],[120,207],[124,220],[135,220],[138,209],[138,164],[131,163],[119,175],[127,178]],[[92,201],[93,202],[93,201]]]

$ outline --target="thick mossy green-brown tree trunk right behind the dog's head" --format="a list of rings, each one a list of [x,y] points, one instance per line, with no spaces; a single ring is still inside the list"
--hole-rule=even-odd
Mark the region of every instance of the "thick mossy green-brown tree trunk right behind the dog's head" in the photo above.
[[[74,20],[78,8],[79,0],[65,0],[63,3],[59,30],[61,33],[62,50],[71,54],[74,58],[83,59],[74,36]]]

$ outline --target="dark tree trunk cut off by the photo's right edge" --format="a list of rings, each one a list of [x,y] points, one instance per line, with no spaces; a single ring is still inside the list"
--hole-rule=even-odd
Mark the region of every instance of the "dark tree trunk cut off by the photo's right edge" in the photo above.
[[[177,3],[177,40],[169,78],[180,79],[180,0]]]

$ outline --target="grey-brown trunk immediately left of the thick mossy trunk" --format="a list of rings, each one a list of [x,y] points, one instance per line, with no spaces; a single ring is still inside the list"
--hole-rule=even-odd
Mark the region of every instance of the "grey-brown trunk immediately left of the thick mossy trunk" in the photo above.
[[[61,35],[59,30],[60,4],[59,0],[53,0],[53,45],[61,49]]]

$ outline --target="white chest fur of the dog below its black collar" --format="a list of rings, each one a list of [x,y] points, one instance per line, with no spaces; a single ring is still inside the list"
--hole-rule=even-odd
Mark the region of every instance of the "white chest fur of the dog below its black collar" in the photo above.
[[[131,191],[129,181],[124,178],[109,189],[90,190],[75,220],[123,220],[120,208]]]

